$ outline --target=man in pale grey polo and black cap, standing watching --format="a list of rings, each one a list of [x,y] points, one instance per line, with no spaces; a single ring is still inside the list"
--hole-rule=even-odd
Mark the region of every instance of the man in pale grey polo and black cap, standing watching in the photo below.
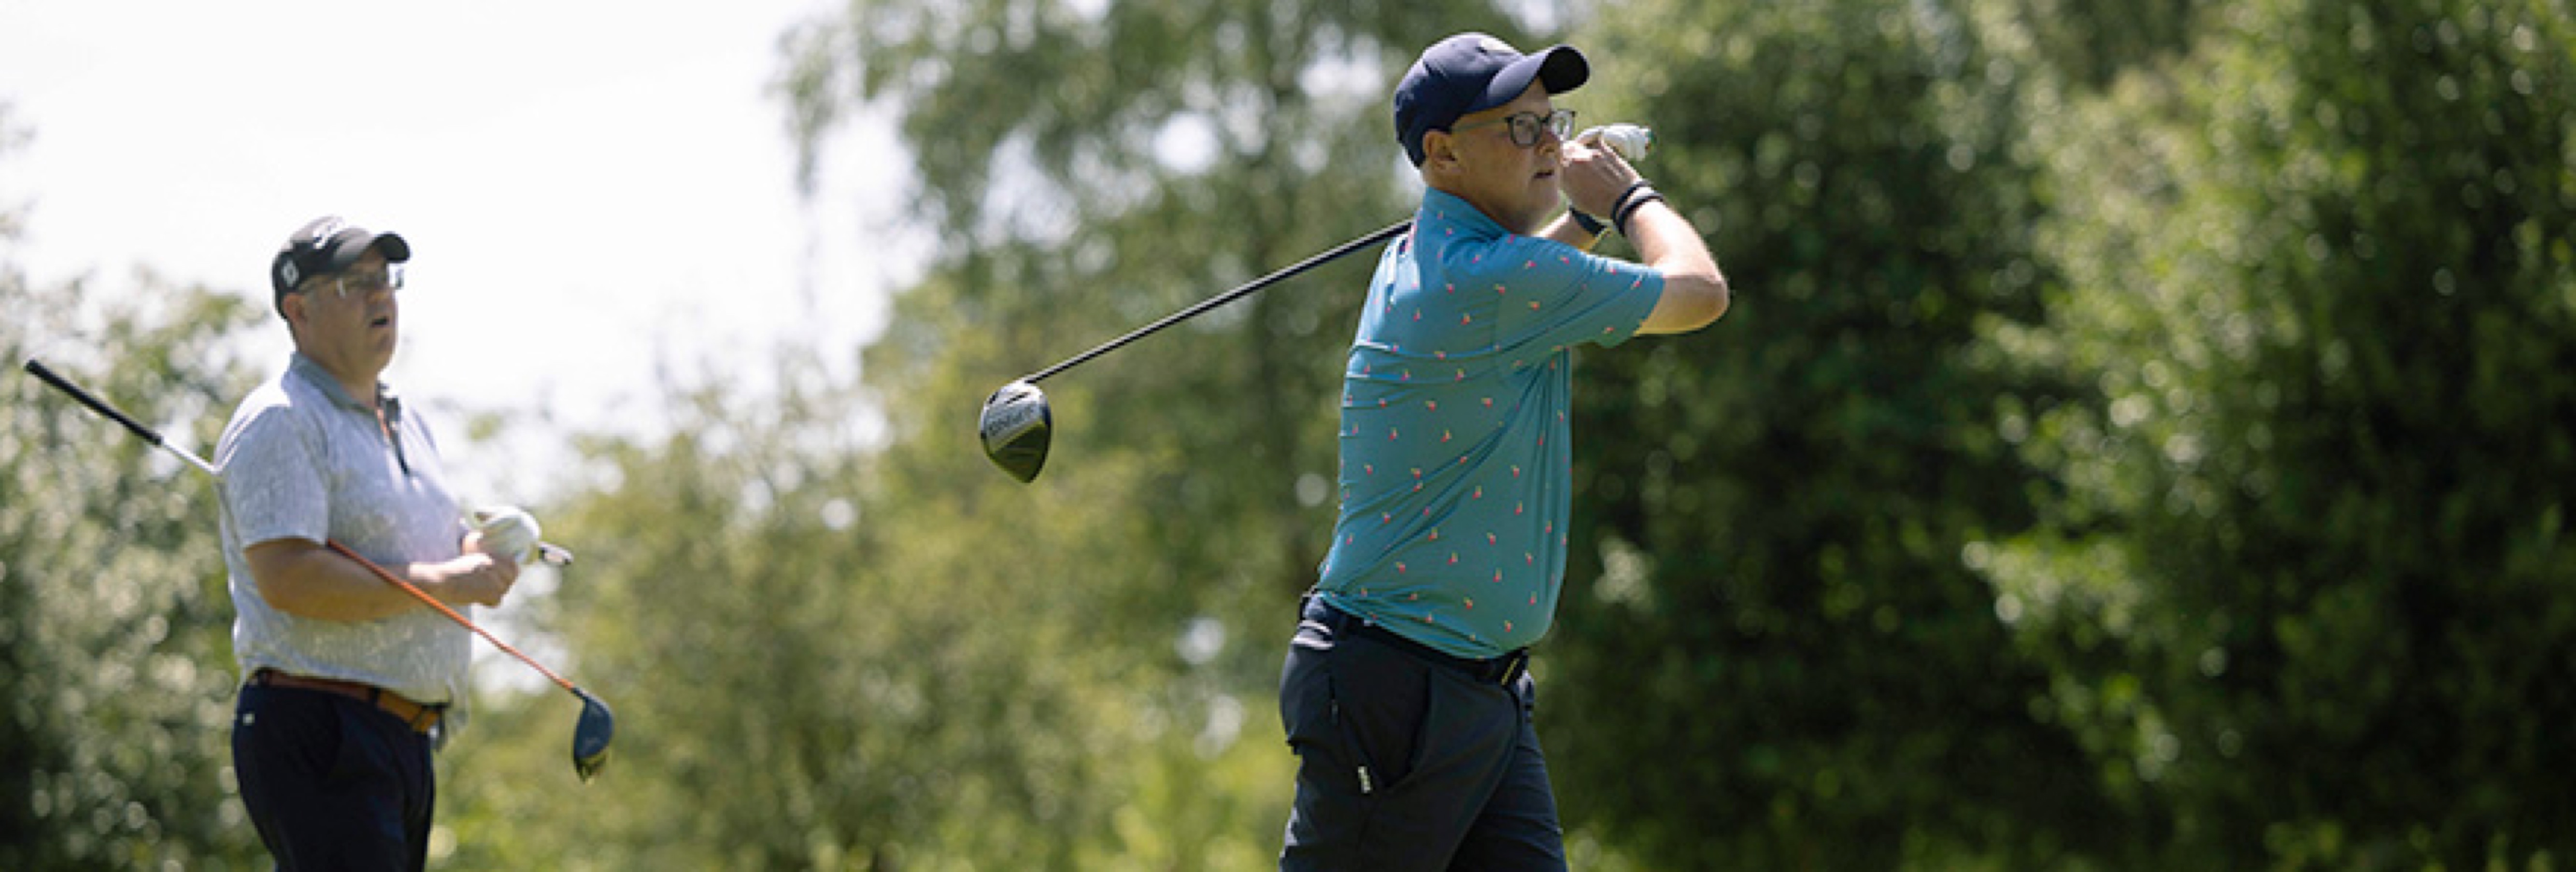
[[[433,733],[466,697],[469,633],[322,543],[461,612],[518,581],[502,535],[484,553],[484,532],[464,527],[428,424],[376,381],[410,257],[402,237],[340,219],[296,229],[268,265],[296,352],[216,442],[247,677],[232,767],[281,869],[420,869]]]

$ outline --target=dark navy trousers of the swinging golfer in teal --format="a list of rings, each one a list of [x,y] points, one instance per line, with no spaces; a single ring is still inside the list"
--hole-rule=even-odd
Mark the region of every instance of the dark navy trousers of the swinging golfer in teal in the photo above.
[[[1298,756],[1280,869],[1564,869],[1530,715],[1538,687],[1473,677],[1309,599],[1280,669]]]

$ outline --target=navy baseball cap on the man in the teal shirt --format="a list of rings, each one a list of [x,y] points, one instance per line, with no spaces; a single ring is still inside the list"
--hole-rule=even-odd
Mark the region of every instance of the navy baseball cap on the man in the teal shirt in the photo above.
[[[1396,82],[1396,141],[1422,165],[1422,136],[1445,131],[1458,116],[1504,105],[1530,90],[1530,80],[1551,95],[1582,87],[1592,64],[1574,46],[1548,46],[1520,54],[1486,33],[1458,33],[1422,49],[1422,59]]]

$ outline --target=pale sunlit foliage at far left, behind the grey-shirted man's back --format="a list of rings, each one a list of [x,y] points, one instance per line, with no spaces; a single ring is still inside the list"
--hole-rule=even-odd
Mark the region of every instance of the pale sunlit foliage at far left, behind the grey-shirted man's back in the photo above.
[[[0,126],[8,116],[0,113]],[[18,219],[0,221],[0,244]],[[214,484],[18,370],[39,358],[180,445],[250,376],[250,306],[149,275],[31,288],[0,250],[0,867],[250,867]],[[100,298],[113,298],[100,304]]]

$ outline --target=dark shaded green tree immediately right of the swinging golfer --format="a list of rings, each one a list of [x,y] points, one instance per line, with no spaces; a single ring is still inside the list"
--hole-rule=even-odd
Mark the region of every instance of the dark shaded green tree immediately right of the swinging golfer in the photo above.
[[[1978,319],[2035,311],[2017,98],[1960,8],[1651,3],[1582,33],[1595,100],[1736,304],[1587,352],[1540,707],[1574,821],[1656,867],[2007,867],[2102,849],[1960,545],[2030,522]]]

